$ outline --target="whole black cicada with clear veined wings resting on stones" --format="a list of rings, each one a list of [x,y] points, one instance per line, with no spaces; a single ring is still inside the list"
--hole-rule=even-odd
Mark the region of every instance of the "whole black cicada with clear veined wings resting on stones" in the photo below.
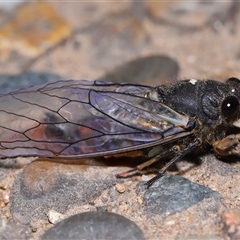
[[[240,80],[187,79],[156,87],[103,81],[58,81],[0,95],[0,158],[97,158],[142,151],[148,166],[194,149],[238,154]],[[238,135],[234,135],[238,136]],[[232,143],[232,144],[231,144]],[[222,146],[223,145],[223,146]],[[229,148],[228,148],[229,149]],[[237,155],[236,154],[236,155]]]

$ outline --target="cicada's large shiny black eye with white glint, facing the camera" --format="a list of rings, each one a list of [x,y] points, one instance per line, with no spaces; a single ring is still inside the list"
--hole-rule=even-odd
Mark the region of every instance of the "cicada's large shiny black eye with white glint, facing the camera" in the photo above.
[[[222,102],[222,114],[228,118],[234,115],[238,111],[238,99],[234,96],[226,97]]]

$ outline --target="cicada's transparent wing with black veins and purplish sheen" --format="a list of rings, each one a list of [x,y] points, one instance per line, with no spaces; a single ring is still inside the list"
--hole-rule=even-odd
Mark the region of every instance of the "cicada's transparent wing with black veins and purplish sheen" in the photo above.
[[[0,157],[103,156],[191,134],[151,87],[59,81],[0,95]]]

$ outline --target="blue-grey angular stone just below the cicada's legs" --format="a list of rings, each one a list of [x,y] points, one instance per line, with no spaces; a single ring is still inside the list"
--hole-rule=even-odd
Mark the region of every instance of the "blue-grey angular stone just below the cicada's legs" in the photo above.
[[[203,199],[219,201],[221,195],[206,186],[174,175],[163,176],[146,190],[143,197],[147,211],[165,215],[182,212]]]

